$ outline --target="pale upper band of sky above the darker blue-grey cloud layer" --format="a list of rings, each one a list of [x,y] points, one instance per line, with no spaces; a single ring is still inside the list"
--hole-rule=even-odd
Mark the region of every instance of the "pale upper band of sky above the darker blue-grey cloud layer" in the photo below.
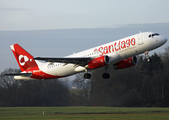
[[[169,0],[0,0],[0,31],[168,23]]]

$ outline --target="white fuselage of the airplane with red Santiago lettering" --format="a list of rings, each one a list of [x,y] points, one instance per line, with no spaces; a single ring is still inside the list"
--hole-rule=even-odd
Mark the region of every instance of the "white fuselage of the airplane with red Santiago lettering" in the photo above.
[[[113,41],[101,46],[97,46],[76,54],[72,54],[66,57],[99,57],[102,55],[108,55],[112,58],[111,63],[115,64],[125,58],[135,56],[146,51],[153,50],[163,45],[167,38],[161,35],[152,36],[153,32],[144,32],[129,36],[117,41]],[[150,36],[151,35],[151,36]],[[36,60],[39,69],[43,72],[58,76],[65,77],[76,74],[85,70],[85,67],[76,66],[75,64],[64,63],[42,63]]]

